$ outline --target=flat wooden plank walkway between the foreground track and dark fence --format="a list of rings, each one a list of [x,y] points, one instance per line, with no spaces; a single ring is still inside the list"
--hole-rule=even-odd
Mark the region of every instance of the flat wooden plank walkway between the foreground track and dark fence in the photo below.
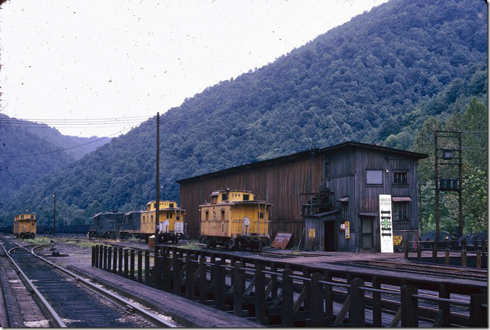
[[[155,290],[148,285],[111,274],[95,267],[69,266],[74,272],[90,278],[106,288],[143,304],[154,311],[172,317],[175,322],[187,327],[263,327],[261,324],[199,304],[184,297]]]

